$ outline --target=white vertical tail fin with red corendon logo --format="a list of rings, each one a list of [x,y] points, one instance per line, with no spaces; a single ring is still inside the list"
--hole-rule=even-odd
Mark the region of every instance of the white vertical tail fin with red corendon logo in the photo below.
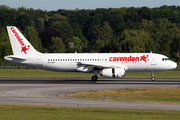
[[[14,55],[39,54],[15,26],[7,26]]]

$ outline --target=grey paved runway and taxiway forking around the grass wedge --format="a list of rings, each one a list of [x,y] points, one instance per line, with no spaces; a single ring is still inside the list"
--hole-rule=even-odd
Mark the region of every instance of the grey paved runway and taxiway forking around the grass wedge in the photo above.
[[[0,78],[0,103],[180,110],[180,104],[95,101],[66,93],[126,88],[180,87],[180,79]]]

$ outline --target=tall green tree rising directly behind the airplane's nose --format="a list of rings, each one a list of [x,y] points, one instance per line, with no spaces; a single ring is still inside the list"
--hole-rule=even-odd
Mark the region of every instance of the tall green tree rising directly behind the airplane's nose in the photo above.
[[[156,42],[154,44],[155,52],[171,56],[171,43],[178,34],[176,24],[171,23],[167,18],[141,21],[141,28],[150,33],[151,38]]]

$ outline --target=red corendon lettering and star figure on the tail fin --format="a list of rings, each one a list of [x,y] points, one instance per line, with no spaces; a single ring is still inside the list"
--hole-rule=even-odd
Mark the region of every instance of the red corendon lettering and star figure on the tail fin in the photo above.
[[[23,39],[20,38],[20,36],[18,35],[18,33],[16,32],[16,30],[14,29],[14,27],[11,27],[10,29],[12,30],[12,32],[13,32],[14,35],[15,35],[15,37],[16,37],[17,40],[19,41],[19,44],[21,45],[21,48],[22,48],[21,52],[24,52],[25,54],[27,54],[27,53],[26,53],[26,50],[29,50],[30,45],[28,45],[27,48],[26,48],[26,45],[24,44]]]

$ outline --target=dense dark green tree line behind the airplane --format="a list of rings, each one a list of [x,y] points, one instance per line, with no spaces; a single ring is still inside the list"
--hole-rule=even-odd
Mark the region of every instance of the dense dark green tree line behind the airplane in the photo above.
[[[17,26],[40,52],[152,51],[179,61],[180,6],[43,11],[2,5],[1,61],[12,54],[6,26]]]

